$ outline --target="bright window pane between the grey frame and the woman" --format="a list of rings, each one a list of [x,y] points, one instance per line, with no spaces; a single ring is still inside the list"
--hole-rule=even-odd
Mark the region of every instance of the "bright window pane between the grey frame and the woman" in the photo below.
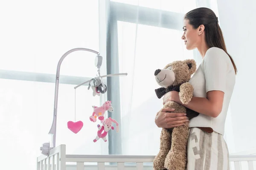
[[[118,35],[119,71],[128,73],[120,79],[122,154],[156,155],[161,129],[154,117],[163,104],[154,92],[154,71],[193,58],[193,52],[184,48],[178,30],[118,22]]]

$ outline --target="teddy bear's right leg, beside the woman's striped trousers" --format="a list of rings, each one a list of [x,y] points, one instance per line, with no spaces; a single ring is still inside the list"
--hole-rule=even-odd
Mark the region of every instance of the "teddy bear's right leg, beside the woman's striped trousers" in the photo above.
[[[185,170],[187,162],[187,139],[189,122],[175,127],[172,131],[172,147],[166,156],[165,167],[168,170]]]

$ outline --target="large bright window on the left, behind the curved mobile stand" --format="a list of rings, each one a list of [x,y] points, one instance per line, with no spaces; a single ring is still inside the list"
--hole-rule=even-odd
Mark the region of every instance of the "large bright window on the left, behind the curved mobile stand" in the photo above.
[[[35,170],[41,144],[51,140],[58,60],[72,48],[99,51],[98,8],[96,0],[1,1],[0,169]],[[87,85],[76,90],[76,120],[84,127],[77,134],[67,128],[74,87],[97,74],[95,56],[76,51],[61,64],[56,146],[66,144],[67,154],[108,154],[108,143],[93,143],[97,127],[89,116],[101,103]]]

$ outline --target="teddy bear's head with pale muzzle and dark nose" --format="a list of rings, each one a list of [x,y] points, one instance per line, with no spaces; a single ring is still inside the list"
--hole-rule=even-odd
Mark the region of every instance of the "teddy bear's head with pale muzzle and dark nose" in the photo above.
[[[170,85],[175,86],[188,82],[191,75],[195,73],[195,70],[195,60],[186,59],[169,63],[165,68],[157,69],[154,75],[157,84],[163,88],[167,88]]]

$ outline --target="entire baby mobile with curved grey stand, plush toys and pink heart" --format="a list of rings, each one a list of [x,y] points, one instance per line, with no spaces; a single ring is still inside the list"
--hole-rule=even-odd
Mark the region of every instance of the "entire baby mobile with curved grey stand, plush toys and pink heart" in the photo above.
[[[75,51],[88,51],[88,52],[95,53],[97,55],[95,57],[95,66],[98,68],[99,75],[97,75],[97,77],[87,81],[87,82],[89,82],[88,90],[90,89],[90,87],[92,88],[93,96],[96,96],[96,95],[102,96],[102,94],[105,95],[105,92],[108,90],[107,86],[102,81],[103,77],[112,77],[112,76],[121,76],[121,75],[127,76],[127,73],[108,74],[108,75],[105,75],[105,76],[101,76],[100,75],[100,66],[102,65],[102,56],[99,55],[98,51],[94,51],[94,50],[89,49],[89,48],[73,48],[73,49],[65,52],[58,61],[56,77],[55,77],[55,95],[54,95],[53,120],[52,120],[52,126],[49,130],[49,133],[48,133],[52,136],[52,141],[43,143],[42,146],[40,147],[41,153],[46,155],[46,156],[49,156],[49,151],[52,148],[56,147],[58,86],[59,86],[61,63],[65,59],[65,57],[67,57],[70,53],[73,53]],[[77,85],[75,87],[75,122],[73,122],[73,121],[68,121],[67,122],[68,129],[71,130],[73,133],[78,133],[84,125],[84,123],[82,121],[76,122],[76,88],[78,88],[81,85],[84,85],[87,82],[83,82],[80,85]],[[91,83],[93,83],[93,85],[91,85]],[[113,106],[112,106],[111,101],[104,101],[104,104],[100,107],[93,106],[93,113],[92,113],[91,116],[88,117],[88,122],[89,121],[96,122],[96,120],[99,119],[99,122],[102,124],[102,125],[99,125],[99,124],[97,125],[97,128],[98,128],[97,136],[93,140],[93,142],[96,142],[100,138],[102,138],[103,141],[106,142],[106,136],[108,134],[108,131],[114,129],[114,127],[112,126],[112,123],[116,124],[116,131],[118,132],[118,130],[119,130],[119,124],[118,124],[118,122],[116,122],[116,120],[111,119],[111,117],[105,118],[105,116],[104,116],[105,111],[112,111],[113,112]]]

